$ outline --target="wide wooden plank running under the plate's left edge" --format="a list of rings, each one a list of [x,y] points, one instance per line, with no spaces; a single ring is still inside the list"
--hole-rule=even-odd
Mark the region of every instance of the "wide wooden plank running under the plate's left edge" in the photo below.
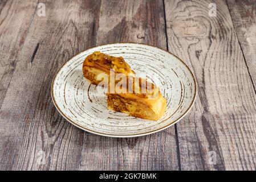
[[[95,46],[100,1],[43,3],[46,16],[31,22],[0,110],[0,169],[80,167],[85,133],[56,111],[50,85],[60,65]]]

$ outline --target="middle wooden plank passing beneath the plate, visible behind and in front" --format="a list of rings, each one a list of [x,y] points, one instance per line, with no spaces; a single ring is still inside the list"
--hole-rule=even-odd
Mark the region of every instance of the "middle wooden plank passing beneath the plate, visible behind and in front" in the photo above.
[[[97,44],[139,42],[166,48],[162,1],[101,1]],[[84,136],[81,169],[178,169],[174,127],[145,137]]]

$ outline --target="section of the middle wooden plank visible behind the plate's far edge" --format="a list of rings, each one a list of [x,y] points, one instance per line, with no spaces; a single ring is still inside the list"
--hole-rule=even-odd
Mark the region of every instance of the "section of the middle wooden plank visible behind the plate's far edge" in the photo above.
[[[136,42],[166,48],[162,1],[103,0],[100,12],[97,44]]]

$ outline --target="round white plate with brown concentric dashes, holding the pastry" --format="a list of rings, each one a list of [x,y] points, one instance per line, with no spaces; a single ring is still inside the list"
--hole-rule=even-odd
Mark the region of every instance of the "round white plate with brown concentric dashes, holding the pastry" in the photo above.
[[[147,76],[159,86],[167,101],[167,109],[159,121],[107,109],[104,90],[83,77],[83,61],[94,51],[123,56],[137,76]],[[196,93],[196,79],[181,59],[164,49],[138,43],[105,44],[80,52],[62,65],[51,85],[54,105],[67,121],[107,137],[139,137],[164,130],[188,113]]]

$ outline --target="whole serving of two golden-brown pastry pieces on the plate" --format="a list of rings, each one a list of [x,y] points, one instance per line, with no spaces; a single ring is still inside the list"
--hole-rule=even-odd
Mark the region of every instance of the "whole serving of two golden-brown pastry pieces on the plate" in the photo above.
[[[114,78],[111,81],[112,78],[109,76],[112,74],[111,69],[115,74],[122,73],[120,80]],[[107,75],[106,80],[105,77],[98,77],[101,73]],[[109,88],[107,93],[109,109],[155,121],[160,119],[166,110],[166,100],[162,97],[159,88],[144,78],[135,77],[135,73],[125,63],[123,57],[94,52],[84,60],[83,75],[92,84],[98,85],[103,80],[108,82],[106,85]],[[123,84],[119,85],[119,92],[116,92],[116,84],[120,84],[123,80],[126,82],[125,87]],[[111,88],[114,88],[113,92]]]

